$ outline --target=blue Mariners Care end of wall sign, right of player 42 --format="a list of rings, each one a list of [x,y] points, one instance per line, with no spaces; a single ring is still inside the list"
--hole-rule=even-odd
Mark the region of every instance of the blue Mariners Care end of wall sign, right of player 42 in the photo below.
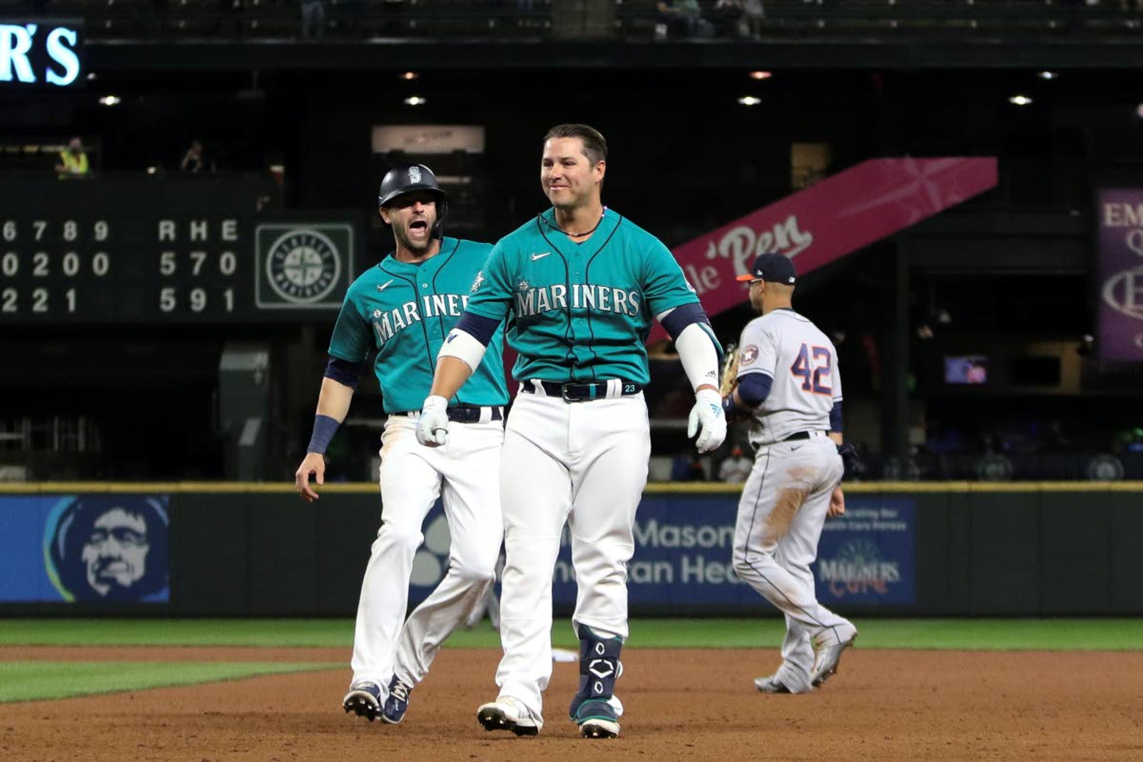
[[[913,502],[847,498],[817,544],[817,600],[831,603],[912,603]]]

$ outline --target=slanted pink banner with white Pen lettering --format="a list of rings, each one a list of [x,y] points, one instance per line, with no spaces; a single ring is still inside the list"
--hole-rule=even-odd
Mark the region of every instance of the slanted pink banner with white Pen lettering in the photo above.
[[[735,280],[778,251],[805,275],[997,184],[994,157],[871,159],[674,249],[708,314],[745,299]],[[653,338],[662,337],[657,328]]]

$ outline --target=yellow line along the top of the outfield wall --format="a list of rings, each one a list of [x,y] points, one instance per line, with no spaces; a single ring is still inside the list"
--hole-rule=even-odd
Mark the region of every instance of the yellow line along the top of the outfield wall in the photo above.
[[[886,492],[1143,492],[1143,481],[1122,482],[846,482],[850,495]],[[376,494],[377,484],[350,482],[319,487],[320,492]],[[737,495],[742,484],[719,482],[652,482],[648,495]],[[0,482],[0,495],[75,492],[263,492],[291,494],[290,482]]]

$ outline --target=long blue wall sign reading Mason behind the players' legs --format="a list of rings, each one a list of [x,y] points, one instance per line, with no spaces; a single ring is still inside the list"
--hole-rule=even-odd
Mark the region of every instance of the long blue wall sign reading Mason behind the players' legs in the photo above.
[[[743,613],[774,608],[734,572],[736,495],[664,495],[642,499],[636,552],[628,564],[632,605],[704,605]],[[847,498],[846,515],[829,519],[814,564],[817,597],[832,603],[913,602],[913,503]],[[425,519],[409,600],[423,600],[448,569],[448,522],[438,503]],[[575,573],[565,528],[552,579],[552,601],[574,605]]]

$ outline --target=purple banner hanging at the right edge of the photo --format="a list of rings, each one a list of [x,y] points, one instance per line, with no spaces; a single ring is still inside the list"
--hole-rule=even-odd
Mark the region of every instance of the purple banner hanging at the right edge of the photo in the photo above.
[[[1100,360],[1143,361],[1143,189],[1098,192]]]

